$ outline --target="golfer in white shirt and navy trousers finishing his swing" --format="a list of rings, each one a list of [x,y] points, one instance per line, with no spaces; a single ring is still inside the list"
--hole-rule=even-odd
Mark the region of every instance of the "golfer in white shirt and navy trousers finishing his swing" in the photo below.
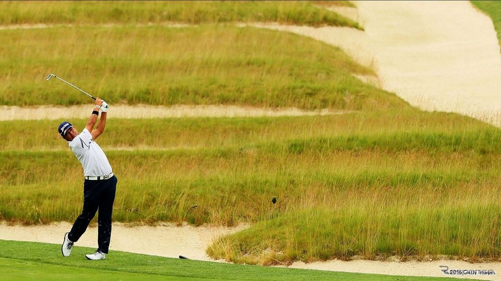
[[[86,254],[88,259],[104,259],[108,253],[111,238],[111,212],[115,200],[117,178],[113,175],[110,162],[103,150],[95,142],[106,126],[108,104],[97,97],[92,114],[87,125],[78,133],[77,129],[68,121],[59,125],[58,132],[68,141],[71,150],[75,153],[84,168],[84,206],[82,213],[77,217],[70,232],[64,236],[61,248],[63,256],[71,254],[73,243],[84,234],[89,222],[98,214],[98,248],[92,254]],[[101,119],[94,128],[101,109]]]

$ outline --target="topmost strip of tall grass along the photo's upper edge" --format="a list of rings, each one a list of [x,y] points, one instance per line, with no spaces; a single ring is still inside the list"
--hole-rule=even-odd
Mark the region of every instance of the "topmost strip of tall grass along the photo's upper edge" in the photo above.
[[[361,27],[319,6],[349,1],[18,1],[0,2],[0,24],[278,22]]]

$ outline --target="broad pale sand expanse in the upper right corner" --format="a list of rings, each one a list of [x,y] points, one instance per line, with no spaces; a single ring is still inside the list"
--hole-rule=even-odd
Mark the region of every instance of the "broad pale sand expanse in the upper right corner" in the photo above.
[[[423,110],[457,112],[501,125],[501,55],[491,19],[469,1],[354,1],[335,9],[365,31],[286,30],[341,47],[373,67],[377,85]]]

